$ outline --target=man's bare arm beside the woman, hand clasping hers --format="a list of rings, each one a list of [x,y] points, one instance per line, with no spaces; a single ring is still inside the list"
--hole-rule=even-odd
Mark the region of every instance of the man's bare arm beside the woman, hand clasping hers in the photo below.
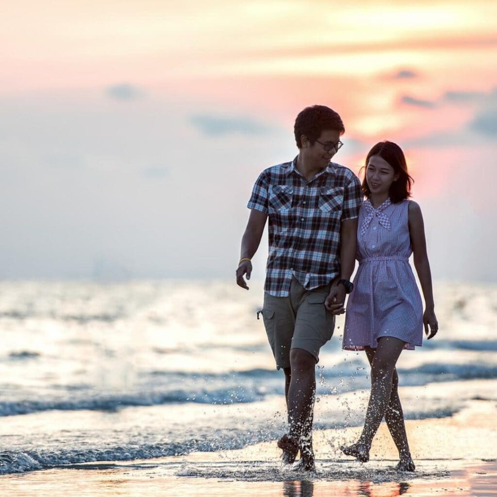
[[[349,280],[354,272],[357,250],[357,218],[346,219],[340,226],[340,274],[333,280],[325,306],[332,314],[342,314],[345,303],[345,287],[338,285],[341,279]]]

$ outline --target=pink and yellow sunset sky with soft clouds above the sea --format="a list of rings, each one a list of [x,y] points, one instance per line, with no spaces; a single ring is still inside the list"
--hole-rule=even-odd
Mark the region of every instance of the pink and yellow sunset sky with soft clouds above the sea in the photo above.
[[[231,277],[253,181],[320,103],[345,124],[335,162],[405,150],[434,277],[497,281],[496,18],[488,0],[7,0],[0,277]]]

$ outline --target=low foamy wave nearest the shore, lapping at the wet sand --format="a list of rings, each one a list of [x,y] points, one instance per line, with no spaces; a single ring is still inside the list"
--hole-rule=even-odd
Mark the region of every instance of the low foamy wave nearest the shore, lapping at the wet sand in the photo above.
[[[434,410],[431,406],[425,412],[416,411],[407,415],[406,418],[423,419],[450,416],[457,409],[457,407],[451,409],[442,406],[441,409]],[[362,411],[362,408],[360,410]],[[354,420],[347,421],[341,410],[323,412],[321,417],[327,421],[316,422],[315,429],[317,430],[356,426],[362,420],[362,415],[359,416],[355,413]],[[206,418],[201,424],[192,424],[187,430],[181,431],[169,427],[166,434],[157,430],[150,433],[143,432],[138,436],[131,433],[133,436],[130,437],[129,430],[101,433],[85,429],[83,445],[80,442],[81,435],[78,432],[59,433],[57,442],[52,443],[50,448],[45,443],[39,445],[36,442],[29,443],[29,445],[26,443],[18,450],[9,449],[4,445],[3,452],[0,452],[0,475],[98,461],[147,460],[166,456],[182,456],[194,451],[218,452],[242,449],[248,445],[276,440],[281,436],[285,427],[286,423],[275,420],[270,415],[267,418],[260,416],[254,418],[250,413],[244,411],[237,412],[234,417],[225,417],[223,425],[215,429],[212,427],[212,418]],[[122,436],[123,433],[125,439],[117,440],[115,438],[116,435]],[[102,436],[107,438],[102,439]]]

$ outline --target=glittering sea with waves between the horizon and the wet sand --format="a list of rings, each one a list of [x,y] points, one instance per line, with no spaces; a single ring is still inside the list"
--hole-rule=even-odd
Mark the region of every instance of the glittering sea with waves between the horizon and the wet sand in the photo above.
[[[435,281],[434,293],[437,336],[398,362],[400,385],[419,387],[402,398],[409,419],[497,400],[473,387],[497,378],[497,285]],[[284,379],[262,297],[262,282],[0,282],[0,474],[279,438]],[[352,400],[369,367],[341,350],[343,319],[317,367],[318,430],[364,419]]]

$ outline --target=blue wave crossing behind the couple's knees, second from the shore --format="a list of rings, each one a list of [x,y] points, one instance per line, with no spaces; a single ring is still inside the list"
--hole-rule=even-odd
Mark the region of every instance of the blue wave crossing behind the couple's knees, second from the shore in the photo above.
[[[361,363],[362,364],[362,363]],[[398,368],[403,386],[432,382],[497,378],[497,366],[489,364],[425,363],[414,368]],[[351,361],[349,366],[318,370],[317,394],[340,394],[369,388],[369,371]],[[227,374],[150,371],[139,387],[128,392],[95,393],[87,384],[53,385],[53,397],[13,398],[0,401],[0,416],[43,411],[117,412],[128,407],[165,404],[229,405],[259,402],[284,394],[281,371],[250,369]],[[61,393],[62,391],[62,393]],[[16,392],[11,395],[23,395]]]

